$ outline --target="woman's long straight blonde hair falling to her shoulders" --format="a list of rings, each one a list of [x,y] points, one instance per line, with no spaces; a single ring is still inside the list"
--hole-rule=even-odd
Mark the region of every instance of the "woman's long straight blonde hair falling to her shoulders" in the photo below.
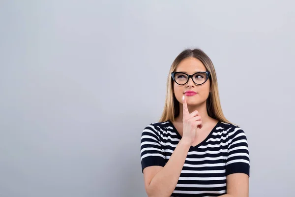
[[[225,118],[221,109],[217,77],[216,77],[216,72],[215,72],[213,63],[211,62],[207,54],[201,49],[186,49],[182,51],[172,63],[169,74],[168,74],[168,79],[167,79],[167,92],[166,92],[165,106],[159,121],[166,122],[169,120],[173,122],[175,118],[179,115],[179,102],[173,93],[173,80],[171,77],[171,72],[174,72],[176,70],[178,64],[182,60],[189,57],[193,57],[200,60],[203,63],[203,65],[206,67],[207,71],[211,73],[209,77],[211,91],[207,98],[208,115],[211,118],[217,119],[221,122],[232,124]]]

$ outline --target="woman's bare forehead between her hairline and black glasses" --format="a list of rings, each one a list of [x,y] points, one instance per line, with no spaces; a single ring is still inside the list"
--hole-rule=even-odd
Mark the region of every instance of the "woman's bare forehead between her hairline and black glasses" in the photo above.
[[[176,68],[176,72],[186,72],[188,74],[199,71],[206,71],[206,67],[200,60],[192,57],[182,60]]]

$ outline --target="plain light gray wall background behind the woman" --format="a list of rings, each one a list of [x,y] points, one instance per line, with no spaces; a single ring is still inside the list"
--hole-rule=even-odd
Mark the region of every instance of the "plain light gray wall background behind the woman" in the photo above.
[[[144,197],[140,136],[183,49],[247,134],[250,197],[294,196],[295,3],[0,1],[0,197]]]

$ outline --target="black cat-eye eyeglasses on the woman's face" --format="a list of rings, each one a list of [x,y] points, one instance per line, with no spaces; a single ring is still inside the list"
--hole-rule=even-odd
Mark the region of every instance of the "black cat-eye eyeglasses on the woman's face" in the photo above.
[[[195,74],[189,75],[184,72],[172,72],[171,77],[178,85],[184,85],[188,82],[189,78],[192,78],[196,85],[204,84],[210,76],[209,71],[200,71]]]

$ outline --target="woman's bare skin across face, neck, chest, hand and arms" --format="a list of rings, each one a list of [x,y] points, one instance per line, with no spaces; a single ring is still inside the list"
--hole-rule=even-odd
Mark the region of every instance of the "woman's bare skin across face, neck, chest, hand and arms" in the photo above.
[[[181,61],[176,71],[194,74],[206,71],[201,61],[187,58]],[[187,97],[184,91],[192,90],[198,94]],[[192,79],[180,86],[174,82],[174,94],[179,101],[179,115],[173,122],[182,136],[176,149],[167,164],[162,166],[149,166],[144,169],[145,188],[148,197],[170,197],[173,193],[190,146],[201,143],[217,124],[217,120],[207,114],[206,102],[210,92],[210,81],[201,86],[193,83]],[[234,173],[226,177],[227,194],[221,197],[248,197],[249,178],[243,173]]]

